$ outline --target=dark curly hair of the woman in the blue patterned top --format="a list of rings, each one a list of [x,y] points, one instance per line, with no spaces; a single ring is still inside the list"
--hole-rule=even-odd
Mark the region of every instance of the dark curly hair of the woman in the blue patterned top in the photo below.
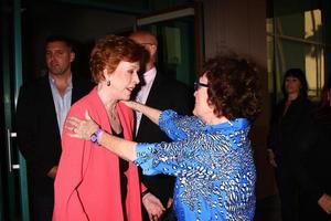
[[[202,75],[209,80],[209,102],[216,116],[254,120],[260,112],[257,66],[236,55],[217,55],[209,60]]]

